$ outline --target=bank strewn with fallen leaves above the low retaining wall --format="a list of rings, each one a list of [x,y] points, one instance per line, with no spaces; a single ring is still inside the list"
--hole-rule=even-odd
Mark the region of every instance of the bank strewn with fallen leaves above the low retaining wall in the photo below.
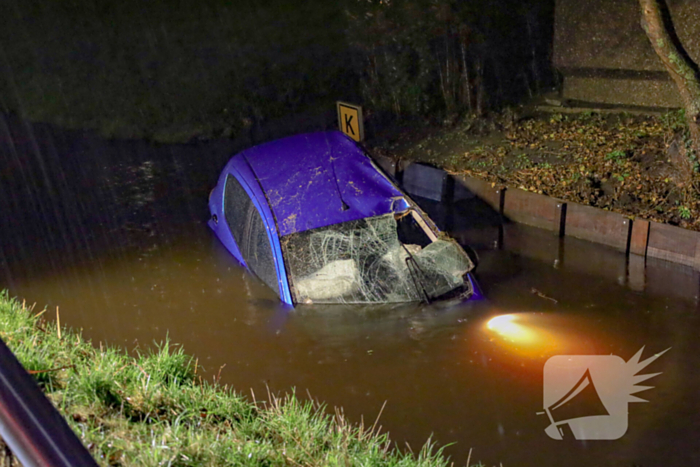
[[[682,111],[631,115],[519,115],[418,128],[373,150],[427,162],[455,174],[553,196],[630,217],[700,230],[698,161]]]

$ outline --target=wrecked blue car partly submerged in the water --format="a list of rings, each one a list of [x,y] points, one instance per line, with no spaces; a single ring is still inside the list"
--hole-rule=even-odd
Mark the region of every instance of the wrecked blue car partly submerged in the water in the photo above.
[[[209,209],[231,254],[290,305],[478,296],[462,247],[337,131],[237,154]]]

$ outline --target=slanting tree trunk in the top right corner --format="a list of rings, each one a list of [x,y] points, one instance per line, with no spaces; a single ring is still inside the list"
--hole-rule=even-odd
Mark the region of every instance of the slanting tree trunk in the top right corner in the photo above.
[[[642,28],[646,32],[651,46],[664,64],[671,78],[676,83],[685,108],[685,118],[690,130],[692,149],[695,157],[700,155],[700,79],[694,64],[682,54],[664,23],[661,10],[663,0],[639,0],[642,8]],[[687,154],[691,156],[691,154]],[[692,175],[693,165],[685,158],[688,171]]]

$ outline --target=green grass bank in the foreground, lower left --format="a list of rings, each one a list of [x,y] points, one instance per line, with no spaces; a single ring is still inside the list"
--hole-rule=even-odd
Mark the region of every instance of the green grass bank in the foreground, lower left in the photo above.
[[[168,342],[132,357],[44,316],[0,292],[0,337],[101,465],[449,464],[430,441],[402,453],[375,426],[293,393],[248,401]]]

